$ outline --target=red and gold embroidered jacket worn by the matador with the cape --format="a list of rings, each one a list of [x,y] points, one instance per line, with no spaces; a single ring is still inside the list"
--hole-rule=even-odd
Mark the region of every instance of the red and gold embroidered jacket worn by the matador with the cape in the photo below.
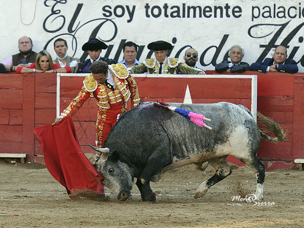
[[[103,109],[103,113],[106,113],[106,109],[110,108],[110,104],[122,102],[122,113],[127,110],[127,101],[131,97],[131,108],[135,107],[139,103],[139,95],[137,85],[132,77],[131,73],[127,70],[123,64],[112,64],[108,66],[112,72],[113,80],[116,84],[114,91],[109,89],[106,85],[98,84],[90,74],[84,80],[84,86],[66,109],[61,113],[61,117],[73,116],[84,102],[89,97],[95,97],[99,109]],[[99,111],[98,111],[99,113]]]

